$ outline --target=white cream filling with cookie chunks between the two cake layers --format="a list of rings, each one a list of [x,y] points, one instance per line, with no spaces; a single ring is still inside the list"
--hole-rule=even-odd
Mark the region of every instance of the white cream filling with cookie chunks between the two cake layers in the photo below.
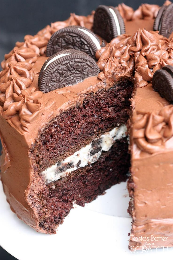
[[[82,147],[80,150],[67,157],[63,161],[59,161],[45,171],[41,172],[44,176],[45,183],[59,180],[67,174],[93,164],[101,156],[102,152],[107,152],[113,146],[116,140],[126,137],[127,128],[125,125],[115,127],[111,131],[106,132],[94,139],[90,144]]]

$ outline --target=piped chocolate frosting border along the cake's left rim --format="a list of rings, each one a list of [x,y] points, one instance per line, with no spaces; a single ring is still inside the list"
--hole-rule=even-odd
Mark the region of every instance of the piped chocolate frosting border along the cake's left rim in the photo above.
[[[27,126],[43,104],[43,93],[36,89],[33,65],[38,56],[45,56],[47,42],[51,35],[68,25],[80,25],[91,29],[94,12],[88,16],[71,14],[64,22],[47,25],[36,35],[26,35],[24,42],[17,42],[1,63],[4,69],[0,73],[0,113],[6,119],[19,115],[21,127],[27,131]],[[52,101],[51,101],[52,102]],[[48,102],[49,103],[49,102]]]

